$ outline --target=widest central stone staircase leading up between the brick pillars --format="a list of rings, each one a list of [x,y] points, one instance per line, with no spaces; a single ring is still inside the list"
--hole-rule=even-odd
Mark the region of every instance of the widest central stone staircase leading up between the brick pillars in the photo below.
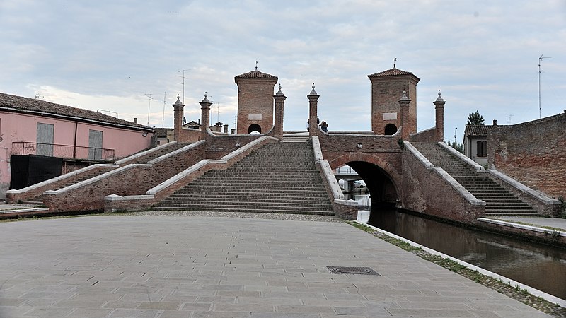
[[[305,140],[262,146],[229,169],[204,173],[155,208],[334,215]]]

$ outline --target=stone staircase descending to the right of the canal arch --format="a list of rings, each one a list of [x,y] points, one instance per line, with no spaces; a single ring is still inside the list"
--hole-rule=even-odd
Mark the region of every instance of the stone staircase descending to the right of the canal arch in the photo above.
[[[441,167],[477,199],[485,201],[486,216],[540,216],[529,204],[499,186],[486,173],[475,172],[438,143],[411,143],[434,167]]]

